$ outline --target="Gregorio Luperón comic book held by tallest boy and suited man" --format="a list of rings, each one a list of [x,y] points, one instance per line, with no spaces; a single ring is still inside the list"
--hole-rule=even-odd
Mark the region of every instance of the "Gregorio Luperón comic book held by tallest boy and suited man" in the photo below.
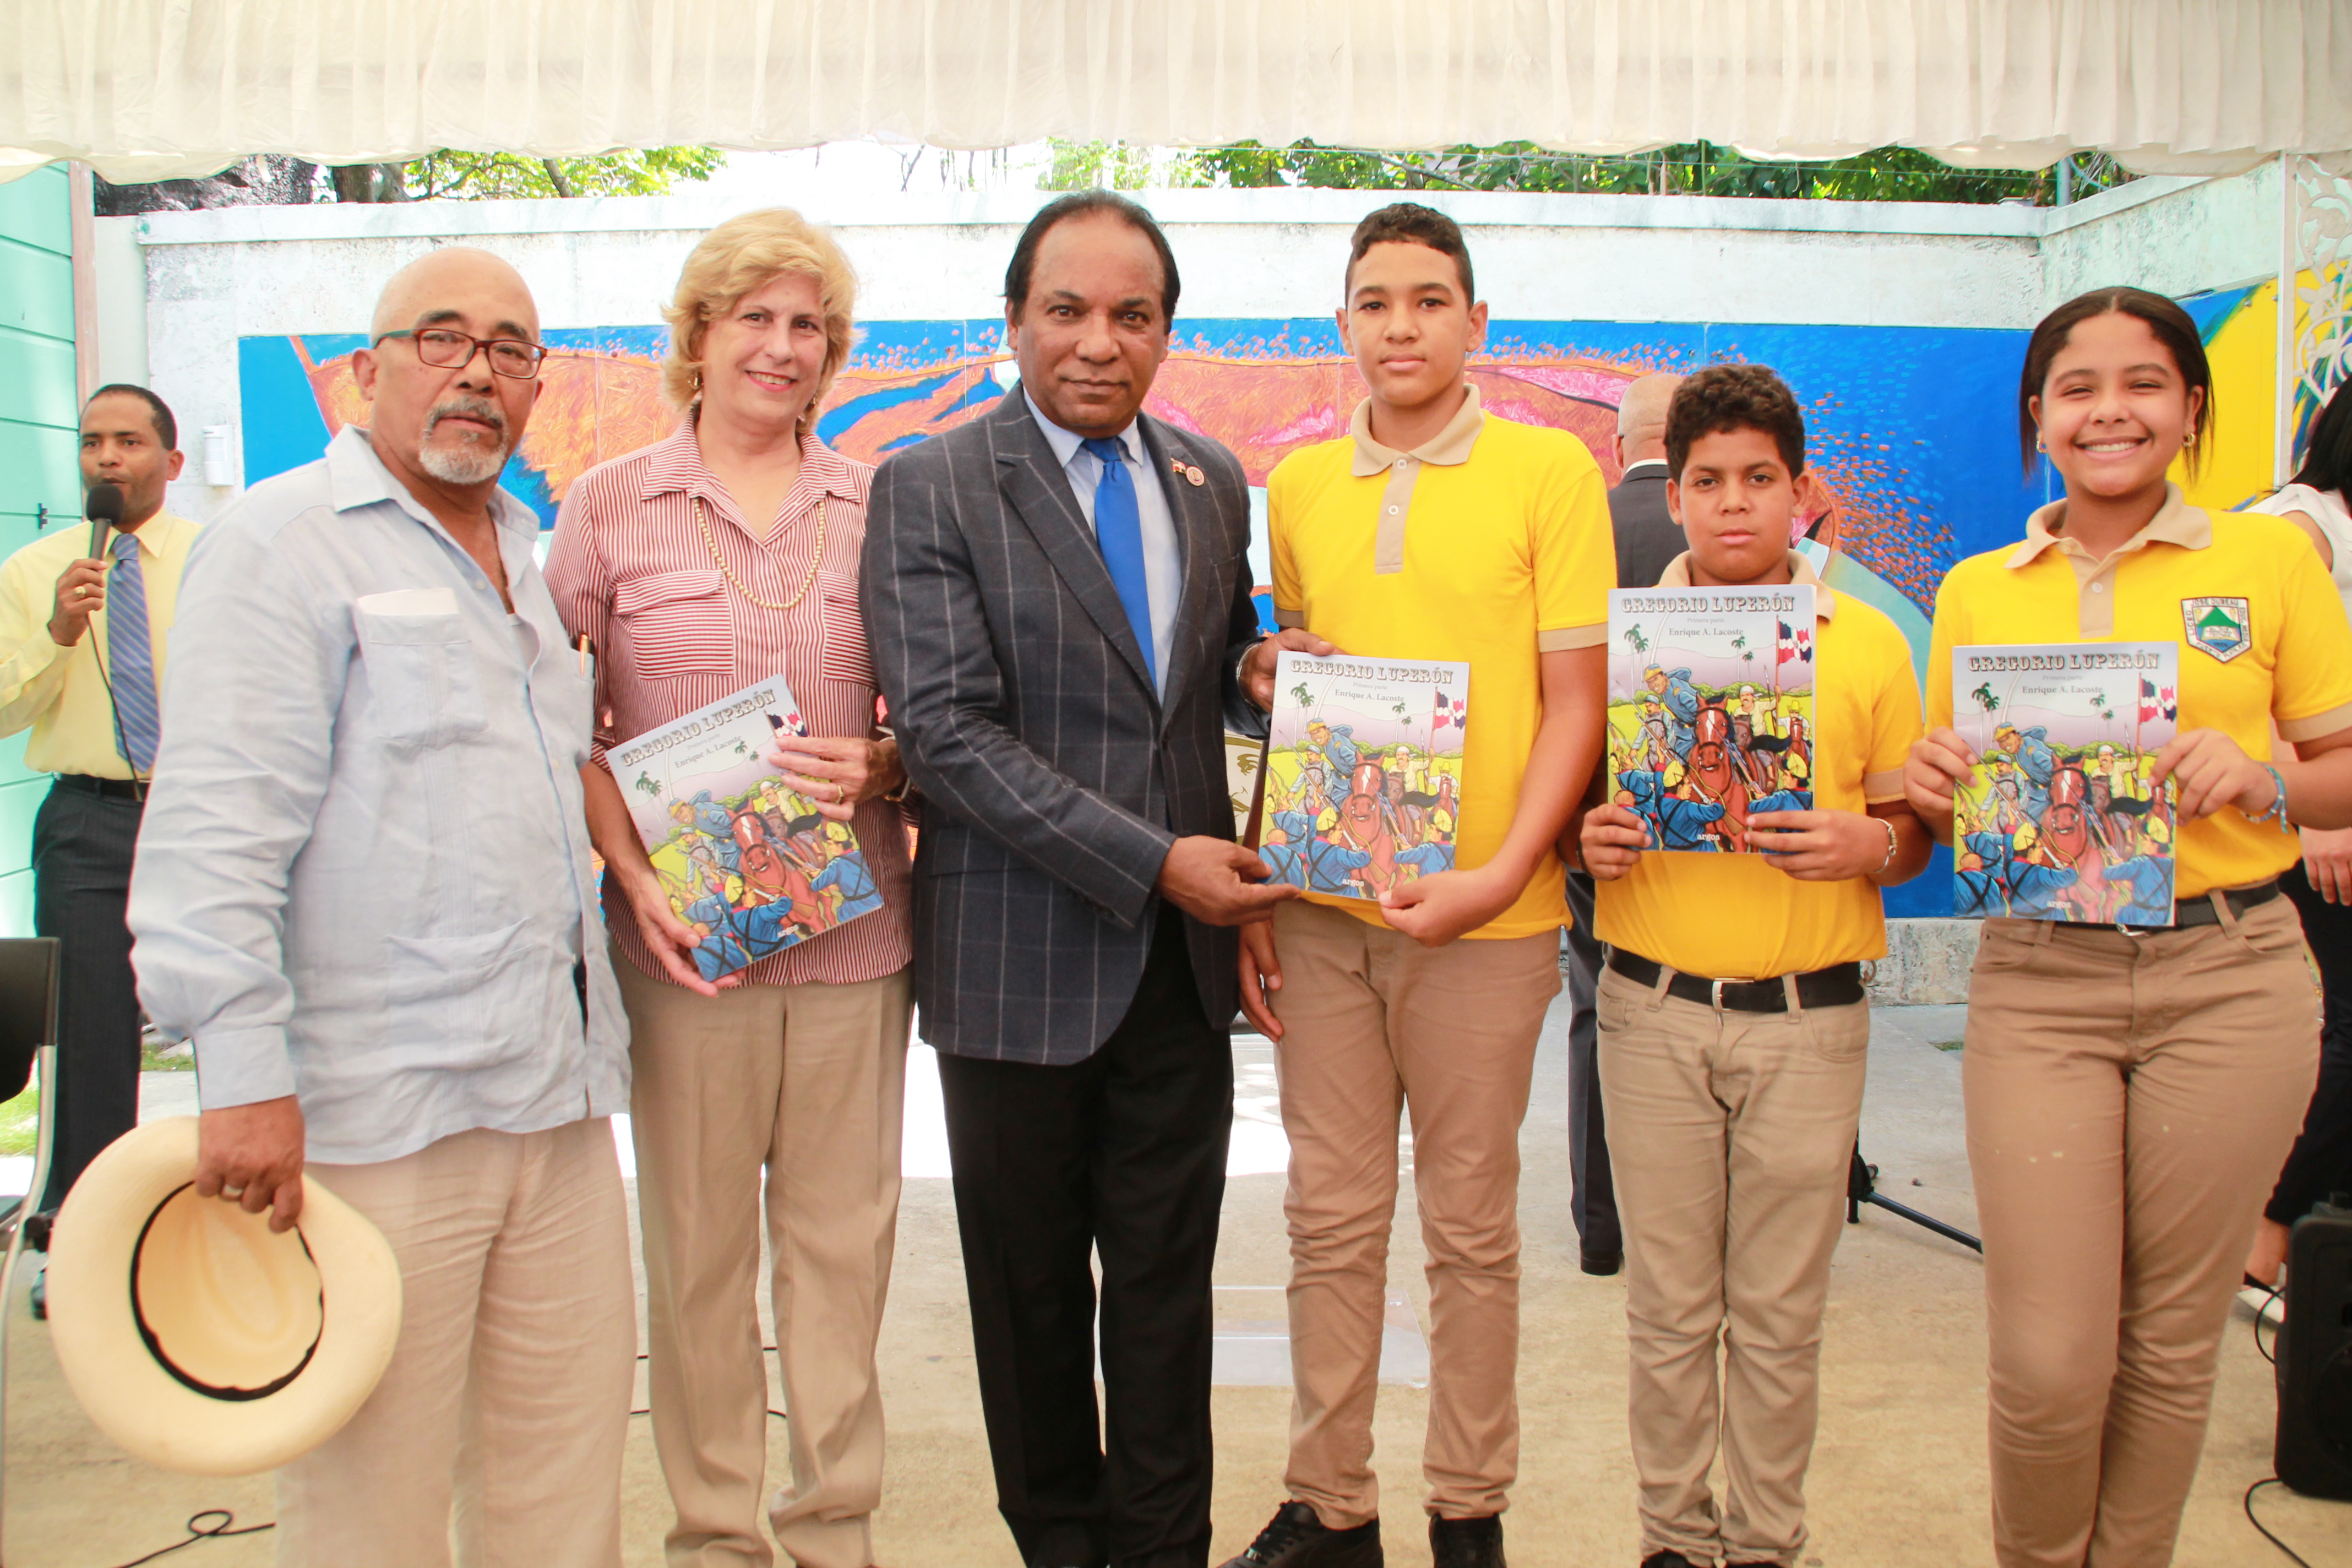
[[[1341,898],[1454,870],[1468,722],[1465,663],[1284,654],[1258,858]]]

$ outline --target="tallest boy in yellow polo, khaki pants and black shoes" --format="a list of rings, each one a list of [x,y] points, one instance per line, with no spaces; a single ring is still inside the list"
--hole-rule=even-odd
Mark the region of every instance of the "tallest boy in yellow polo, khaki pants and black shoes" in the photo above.
[[[1599,468],[1564,430],[1479,409],[1486,329],[1461,228],[1414,205],[1355,230],[1338,327],[1369,397],[1268,482],[1282,646],[1470,665],[1456,867],[1378,903],[1308,893],[1244,926],[1244,1006],[1275,1039],[1291,1138],[1289,1502],[1240,1568],[1381,1563],[1371,1401],[1397,1117],[1430,1253],[1423,1474],[1439,1568],[1503,1568],[1519,1453],[1519,1121],[1559,992],[1555,839],[1602,743],[1616,583]],[[1277,961],[1279,954],[1279,961]],[[1230,1566],[1228,1566],[1230,1568]]]

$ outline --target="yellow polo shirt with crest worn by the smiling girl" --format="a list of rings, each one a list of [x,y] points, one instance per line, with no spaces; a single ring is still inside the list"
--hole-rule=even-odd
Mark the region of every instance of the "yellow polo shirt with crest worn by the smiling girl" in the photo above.
[[[2178,642],[2180,729],[2218,729],[2270,759],[2288,741],[2352,726],[2352,625],[2310,536],[2284,517],[2209,512],[2166,487],[2164,508],[2114,555],[2065,538],[2065,501],[2037,510],[2025,543],[1971,555],[1936,595],[1926,722],[1952,722],[1952,649],[1980,642]],[[2173,889],[2277,877],[2303,849],[2234,806],[2180,827]]]

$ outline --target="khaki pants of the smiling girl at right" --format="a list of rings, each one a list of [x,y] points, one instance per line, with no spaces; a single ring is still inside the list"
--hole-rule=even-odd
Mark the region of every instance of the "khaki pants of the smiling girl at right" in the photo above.
[[[2124,936],[1994,919],[1962,1081],[2004,1568],[2161,1568],[2246,1237],[2319,1063],[2296,905]]]

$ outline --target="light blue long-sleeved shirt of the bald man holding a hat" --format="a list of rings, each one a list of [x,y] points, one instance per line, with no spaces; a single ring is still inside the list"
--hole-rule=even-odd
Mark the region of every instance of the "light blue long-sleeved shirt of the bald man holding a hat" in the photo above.
[[[503,491],[494,515],[513,614],[346,425],[207,527],[179,590],[139,1001],[195,1041],[207,1110],[299,1095],[315,1161],[628,1110],[590,682],[539,520]]]

